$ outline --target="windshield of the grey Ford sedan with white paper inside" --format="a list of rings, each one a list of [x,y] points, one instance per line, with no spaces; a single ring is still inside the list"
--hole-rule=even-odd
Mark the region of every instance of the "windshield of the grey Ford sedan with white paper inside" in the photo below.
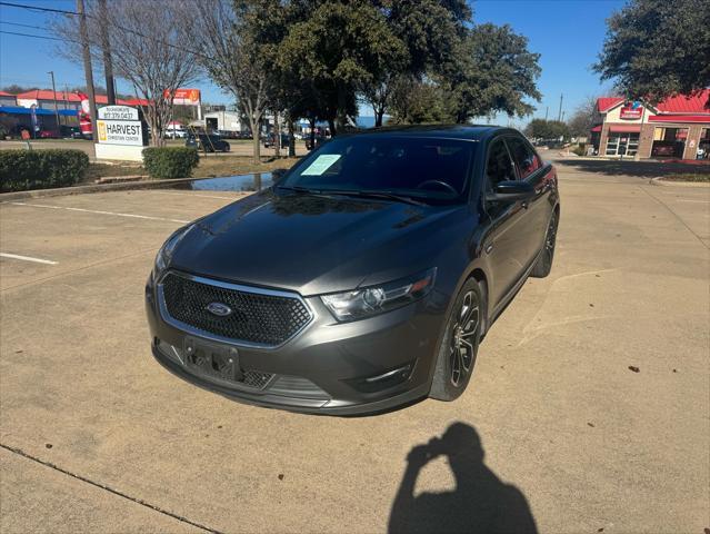
[[[300,161],[279,187],[460,200],[468,190],[476,146],[456,139],[383,135],[334,138]]]

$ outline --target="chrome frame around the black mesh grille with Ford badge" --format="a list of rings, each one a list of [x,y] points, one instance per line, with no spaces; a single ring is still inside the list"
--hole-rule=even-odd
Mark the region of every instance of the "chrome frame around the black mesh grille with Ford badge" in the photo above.
[[[188,280],[197,281],[208,286],[216,286],[216,287],[221,287],[223,289],[232,289],[232,290],[237,290],[241,293],[251,293],[254,295],[268,295],[271,297],[294,298],[299,300],[306,307],[306,309],[308,310],[310,315],[310,319],[301,328],[296,330],[289,338],[284,339],[278,345],[269,345],[266,343],[253,343],[253,342],[247,342],[244,339],[234,339],[231,337],[220,336],[211,332],[201,330],[200,328],[196,328],[192,325],[188,325],[187,323],[182,323],[181,320],[176,319],[168,312],[168,305],[166,303],[166,296],[164,296],[163,284],[162,284],[168,275],[174,275],[174,276],[179,276],[181,278],[186,278]],[[158,293],[158,308],[159,308],[160,317],[162,318],[162,320],[168,323],[170,326],[173,326],[174,328],[187,332],[194,336],[202,337],[204,339],[210,339],[213,342],[226,343],[228,345],[233,345],[236,347],[263,348],[263,349],[271,349],[271,350],[281,348],[283,345],[286,345],[289,342],[292,342],[296,337],[301,335],[309,326],[311,326],[316,322],[316,317],[317,317],[313,308],[308,304],[308,301],[306,301],[306,299],[301,295],[299,295],[296,291],[284,291],[280,289],[267,289],[262,287],[244,286],[241,284],[231,284],[228,281],[216,280],[213,278],[204,278],[203,276],[190,275],[188,273],[182,273],[174,269],[168,269],[166,273],[163,273],[156,285],[156,288]]]

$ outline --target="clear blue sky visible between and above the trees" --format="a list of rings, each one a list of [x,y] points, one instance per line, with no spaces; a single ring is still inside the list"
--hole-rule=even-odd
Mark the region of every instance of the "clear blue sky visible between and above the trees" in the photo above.
[[[74,0],[7,0],[13,3],[32,4],[54,9],[76,9]],[[153,0],[158,1],[158,0]],[[166,0],[169,1],[169,0]],[[562,110],[568,118],[588,96],[611,91],[611,83],[601,83],[591,71],[606,33],[606,19],[621,9],[623,0],[476,0],[471,2],[474,22],[510,24],[517,33],[529,40],[529,50],[540,53],[542,75],[538,89],[542,93],[532,117],[556,119],[559,115],[560,95]],[[0,31],[52,36],[51,31],[14,24],[46,28],[51,16],[27,9],[0,6]],[[0,87],[11,83],[50,88],[48,71],[53,70],[57,89],[64,86],[83,86],[83,68],[57,55],[59,41],[33,39],[0,33]],[[94,83],[106,85],[101,75],[94,73]],[[202,90],[202,101],[231,103],[230,98],[210,83],[201,80],[193,83]],[[118,81],[119,92],[130,93],[130,86]],[[367,107],[361,116],[372,115]],[[522,126],[530,120],[508,119],[498,116],[494,121]]]

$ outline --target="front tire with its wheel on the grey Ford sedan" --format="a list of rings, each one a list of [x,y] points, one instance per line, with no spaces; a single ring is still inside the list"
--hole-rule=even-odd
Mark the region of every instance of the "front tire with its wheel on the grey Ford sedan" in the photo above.
[[[461,396],[471,379],[484,320],[482,287],[472,278],[467,280],[447,317],[429,392],[431,398],[453,400]]]

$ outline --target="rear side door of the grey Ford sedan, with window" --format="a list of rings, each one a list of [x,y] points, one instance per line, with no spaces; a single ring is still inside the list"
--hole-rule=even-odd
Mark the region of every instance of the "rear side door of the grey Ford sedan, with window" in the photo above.
[[[536,196],[523,202],[526,212],[526,266],[538,256],[544,241],[544,234],[550,219],[551,205],[548,201],[548,188],[544,182],[547,167],[530,144],[520,135],[506,138],[508,149],[512,156],[518,179],[528,181],[536,190]]]

